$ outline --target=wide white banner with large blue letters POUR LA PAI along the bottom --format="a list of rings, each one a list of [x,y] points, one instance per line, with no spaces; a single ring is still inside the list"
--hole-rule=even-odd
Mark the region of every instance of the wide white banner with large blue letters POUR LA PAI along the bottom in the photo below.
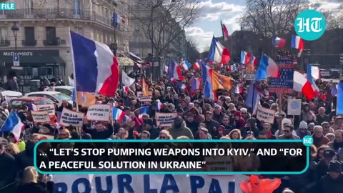
[[[239,185],[245,175],[54,175],[55,192],[229,192],[242,193]]]

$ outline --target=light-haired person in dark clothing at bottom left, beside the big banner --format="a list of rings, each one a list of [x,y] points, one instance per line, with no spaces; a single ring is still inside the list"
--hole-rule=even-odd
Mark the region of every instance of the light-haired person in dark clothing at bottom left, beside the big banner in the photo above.
[[[35,193],[53,193],[54,192],[54,182],[52,182],[51,177],[46,177],[47,182],[39,182],[38,172],[34,167],[26,167],[24,169],[23,179],[21,184],[19,184],[17,193],[35,192]]]

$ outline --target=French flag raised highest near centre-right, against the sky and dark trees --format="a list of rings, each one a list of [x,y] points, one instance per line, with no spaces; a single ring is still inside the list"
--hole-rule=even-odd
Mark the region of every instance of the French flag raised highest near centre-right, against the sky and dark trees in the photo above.
[[[229,49],[220,44],[220,42],[213,36],[207,60],[210,63],[215,62],[217,64],[227,64],[230,61],[230,58]]]

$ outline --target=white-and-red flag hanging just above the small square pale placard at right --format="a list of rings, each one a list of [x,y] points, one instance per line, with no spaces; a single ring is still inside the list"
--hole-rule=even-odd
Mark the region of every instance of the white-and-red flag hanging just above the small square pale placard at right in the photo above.
[[[311,82],[299,71],[294,71],[293,89],[294,91],[302,92],[307,100],[312,100],[315,97],[315,91],[312,88]]]

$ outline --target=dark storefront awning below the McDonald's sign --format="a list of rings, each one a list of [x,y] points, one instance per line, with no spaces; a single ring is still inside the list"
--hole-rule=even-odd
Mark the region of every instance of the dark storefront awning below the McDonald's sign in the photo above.
[[[13,64],[12,57],[4,57],[6,64]],[[66,62],[59,56],[36,56],[19,59],[20,66],[65,66]]]

